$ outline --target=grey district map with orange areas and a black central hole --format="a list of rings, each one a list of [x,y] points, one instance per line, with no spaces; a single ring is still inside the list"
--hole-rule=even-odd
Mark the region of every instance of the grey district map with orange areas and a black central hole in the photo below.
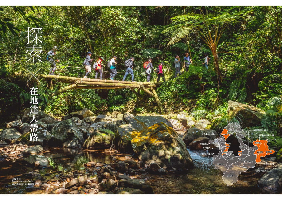
[[[228,151],[232,144],[226,142],[226,140],[233,133],[236,134],[240,143],[239,156],[235,156],[232,151]],[[275,153],[274,150],[268,149],[267,140],[257,139],[253,141],[253,147],[244,144],[242,138],[248,134],[247,131],[243,131],[238,123],[228,124],[220,135],[219,138],[209,142],[219,147],[219,153],[213,155],[213,164],[216,169],[220,169],[223,172],[222,180],[227,186],[238,181],[240,173],[247,171],[249,168],[254,168],[256,163],[261,162],[261,157]]]

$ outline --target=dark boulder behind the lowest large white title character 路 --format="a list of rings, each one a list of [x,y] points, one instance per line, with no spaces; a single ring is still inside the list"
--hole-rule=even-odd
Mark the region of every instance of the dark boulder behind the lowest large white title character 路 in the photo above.
[[[30,133],[32,132],[27,132],[25,134],[22,134],[18,139],[17,139],[17,143],[23,143],[23,144],[27,144],[28,146],[31,145],[45,145],[48,143],[48,141],[52,138],[52,135],[46,130],[46,129],[42,129],[42,128],[38,128],[37,131],[35,132],[37,134],[37,141],[36,140],[32,140],[30,141]]]

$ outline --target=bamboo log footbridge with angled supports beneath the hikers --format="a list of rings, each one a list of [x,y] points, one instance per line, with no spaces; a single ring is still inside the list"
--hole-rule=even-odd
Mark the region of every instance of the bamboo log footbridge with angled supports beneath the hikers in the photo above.
[[[50,89],[53,90],[56,82],[69,83],[68,86],[55,90],[51,96],[58,95],[67,90],[80,88],[80,89],[122,89],[130,88],[130,90],[138,97],[141,98],[140,90],[143,90],[147,94],[153,96],[160,108],[160,112],[165,114],[158,94],[156,93],[155,88],[159,86],[160,82],[131,82],[131,81],[113,81],[113,80],[100,80],[100,79],[89,79],[89,78],[77,78],[77,77],[68,77],[68,76],[58,76],[58,75],[41,75],[40,76],[47,81],[50,81]],[[137,92],[134,90],[137,88]],[[151,91],[150,91],[151,90]]]

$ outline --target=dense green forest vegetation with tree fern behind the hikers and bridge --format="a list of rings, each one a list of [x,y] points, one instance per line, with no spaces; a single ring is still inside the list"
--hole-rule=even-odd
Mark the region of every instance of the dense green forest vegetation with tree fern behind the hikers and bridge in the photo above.
[[[57,75],[83,77],[88,51],[96,60],[117,56],[116,80],[122,80],[124,61],[135,57],[136,81],[146,81],[143,63],[164,63],[166,82],[158,87],[162,102],[198,99],[193,115],[221,123],[227,101],[266,111],[264,128],[281,133],[282,121],[282,6],[1,6],[0,118],[14,119],[29,107],[29,88],[39,88],[39,106],[53,116],[88,108],[93,112],[122,110],[136,97],[129,89],[74,89],[50,98],[47,82],[30,79],[49,73],[47,52],[56,45]],[[26,62],[28,27],[42,27],[42,62]],[[190,70],[174,78],[174,55],[189,52]],[[204,53],[211,60],[206,70]],[[183,62],[181,63],[183,66]],[[138,73],[137,73],[138,72]],[[90,77],[93,77],[92,73]],[[109,73],[104,74],[109,79]],[[152,73],[151,80],[157,81]],[[161,80],[162,81],[162,80]],[[67,86],[56,84],[54,90]],[[136,110],[138,111],[138,110]],[[220,124],[220,123],[219,123]]]

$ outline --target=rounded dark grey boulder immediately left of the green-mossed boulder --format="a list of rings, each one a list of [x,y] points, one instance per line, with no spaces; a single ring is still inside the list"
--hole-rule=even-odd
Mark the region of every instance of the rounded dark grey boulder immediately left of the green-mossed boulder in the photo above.
[[[65,148],[81,147],[84,143],[82,133],[71,119],[57,123],[50,133],[53,135],[52,142]]]

